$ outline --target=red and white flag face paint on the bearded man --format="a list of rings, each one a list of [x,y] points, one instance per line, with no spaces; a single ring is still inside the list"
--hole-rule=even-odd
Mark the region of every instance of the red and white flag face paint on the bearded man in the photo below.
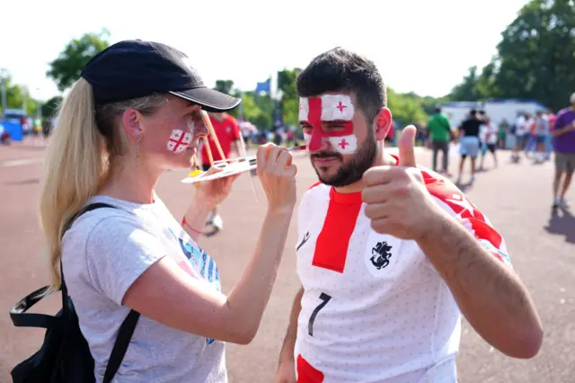
[[[299,99],[299,120],[312,126],[312,134],[304,133],[305,145],[310,152],[320,150],[328,141],[342,155],[350,155],[358,147],[353,134],[355,109],[347,94],[324,94],[321,97]],[[322,122],[340,121],[343,129],[325,131]]]

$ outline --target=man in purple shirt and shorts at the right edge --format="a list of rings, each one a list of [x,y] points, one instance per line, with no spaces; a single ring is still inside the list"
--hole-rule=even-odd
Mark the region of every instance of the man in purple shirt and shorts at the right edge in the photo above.
[[[575,171],[575,93],[571,94],[571,107],[557,113],[553,124],[555,150],[555,178],[553,179],[553,208],[565,206],[565,194]],[[561,187],[561,193],[559,192]]]

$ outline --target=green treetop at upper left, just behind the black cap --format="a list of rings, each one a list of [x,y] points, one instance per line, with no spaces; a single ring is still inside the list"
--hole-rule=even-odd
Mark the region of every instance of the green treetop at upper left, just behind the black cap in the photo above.
[[[54,80],[60,92],[64,92],[80,78],[82,68],[88,61],[108,48],[109,37],[110,32],[104,29],[100,33],[84,33],[80,39],[71,40],[59,56],[49,63],[46,76]]]

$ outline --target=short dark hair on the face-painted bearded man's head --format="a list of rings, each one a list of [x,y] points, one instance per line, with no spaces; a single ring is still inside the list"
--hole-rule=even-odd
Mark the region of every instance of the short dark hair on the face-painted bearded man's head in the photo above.
[[[384,80],[373,61],[340,47],[315,57],[297,76],[296,89],[300,97],[338,91],[353,93],[368,125],[387,106]]]

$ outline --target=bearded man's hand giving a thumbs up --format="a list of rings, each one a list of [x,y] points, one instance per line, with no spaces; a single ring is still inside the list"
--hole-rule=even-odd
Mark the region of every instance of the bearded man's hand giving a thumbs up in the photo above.
[[[399,138],[399,164],[376,166],[363,174],[365,214],[380,234],[419,240],[427,235],[442,211],[423,183],[415,164],[416,129],[405,127]]]

